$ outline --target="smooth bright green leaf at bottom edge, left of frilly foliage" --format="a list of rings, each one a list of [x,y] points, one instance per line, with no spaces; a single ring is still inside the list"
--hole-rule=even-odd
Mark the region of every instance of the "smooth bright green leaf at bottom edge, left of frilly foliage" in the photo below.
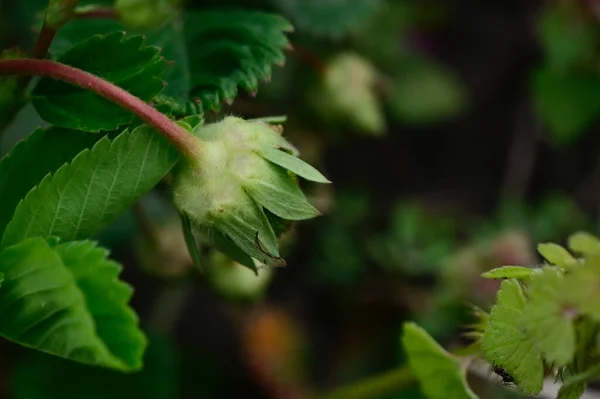
[[[477,398],[469,388],[465,369],[457,359],[415,323],[404,323],[403,330],[402,345],[428,399]]]

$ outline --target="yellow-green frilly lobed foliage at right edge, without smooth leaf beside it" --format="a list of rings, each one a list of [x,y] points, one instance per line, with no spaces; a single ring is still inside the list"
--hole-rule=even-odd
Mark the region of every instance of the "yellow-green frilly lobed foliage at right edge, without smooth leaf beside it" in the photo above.
[[[578,232],[568,242],[582,258],[576,260],[559,245],[544,244],[539,249],[549,265],[528,275],[514,267],[488,273],[504,271],[513,278],[498,292],[483,335],[483,354],[514,377],[525,393],[537,394],[543,377],[558,373],[565,381],[559,398],[575,398],[598,374],[600,240]],[[511,274],[513,270],[517,273]]]

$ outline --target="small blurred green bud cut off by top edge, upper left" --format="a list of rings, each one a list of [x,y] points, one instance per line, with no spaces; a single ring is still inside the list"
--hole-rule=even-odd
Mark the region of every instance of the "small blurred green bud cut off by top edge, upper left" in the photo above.
[[[173,18],[180,0],[117,0],[115,8],[125,24],[133,29],[153,28]]]

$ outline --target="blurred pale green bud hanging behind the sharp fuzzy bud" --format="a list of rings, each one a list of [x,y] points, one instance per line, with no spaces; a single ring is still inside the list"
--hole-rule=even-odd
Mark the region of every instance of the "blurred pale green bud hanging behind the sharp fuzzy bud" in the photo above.
[[[375,87],[377,70],[364,58],[343,53],[327,65],[322,87],[313,93],[320,114],[372,135],[385,132],[385,118]]]

